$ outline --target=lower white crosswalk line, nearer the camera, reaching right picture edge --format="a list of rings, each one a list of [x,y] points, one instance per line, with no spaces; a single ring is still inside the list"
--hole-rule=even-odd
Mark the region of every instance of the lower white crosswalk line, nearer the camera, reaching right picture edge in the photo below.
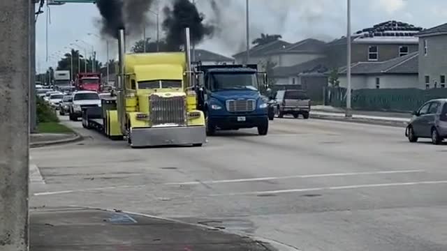
[[[310,192],[310,191],[323,191],[323,190],[347,190],[347,189],[360,189],[360,188],[385,188],[396,187],[405,185],[438,185],[447,184],[447,181],[415,181],[404,183],[381,183],[381,184],[365,184],[365,185],[342,185],[333,187],[321,187],[321,188],[300,188],[300,189],[286,189],[286,190],[270,190],[270,191],[256,191],[256,192],[233,192],[228,194],[214,194],[210,197],[219,196],[236,196],[236,195],[274,195],[290,192]]]

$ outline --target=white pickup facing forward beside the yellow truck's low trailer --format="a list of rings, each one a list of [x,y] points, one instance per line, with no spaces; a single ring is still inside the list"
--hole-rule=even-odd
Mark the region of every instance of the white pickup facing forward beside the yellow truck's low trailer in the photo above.
[[[76,91],[68,113],[71,121],[78,121],[85,107],[101,107],[101,98],[96,91]]]

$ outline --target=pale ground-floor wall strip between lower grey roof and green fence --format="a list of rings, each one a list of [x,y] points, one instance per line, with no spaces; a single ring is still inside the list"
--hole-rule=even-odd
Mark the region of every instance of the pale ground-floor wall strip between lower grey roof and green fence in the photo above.
[[[376,89],[376,78],[379,78],[380,89],[420,88],[418,75],[353,75],[352,89]],[[339,77],[340,86],[347,86],[346,76]]]

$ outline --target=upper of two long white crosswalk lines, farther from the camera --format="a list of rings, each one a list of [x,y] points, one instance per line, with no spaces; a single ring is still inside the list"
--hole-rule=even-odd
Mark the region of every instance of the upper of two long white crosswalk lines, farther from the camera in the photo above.
[[[302,174],[291,176],[272,176],[262,178],[237,178],[231,180],[217,180],[217,181],[189,181],[189,182],[170,182],[165,185],[200,185],[200,184],[217,184],[217,183],[239,183],[239,182],[253,182],[253,181],[272,181],[290,178],[319,178],[319,177],[331,177],[331,176],[360,176],[360,175],[374,175],[374,174],[406,174],[425,172],[423,169],[411,169],[411,170],[395,170],[395,171],[378,171],[378,172],[349,172],[349,173],[335,173],[335,174]]]

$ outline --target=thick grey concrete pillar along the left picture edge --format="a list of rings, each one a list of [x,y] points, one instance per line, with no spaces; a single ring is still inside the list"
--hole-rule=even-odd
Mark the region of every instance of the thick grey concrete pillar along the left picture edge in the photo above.
[[[29,246],[30,0],[0,1],[0,250]]]

